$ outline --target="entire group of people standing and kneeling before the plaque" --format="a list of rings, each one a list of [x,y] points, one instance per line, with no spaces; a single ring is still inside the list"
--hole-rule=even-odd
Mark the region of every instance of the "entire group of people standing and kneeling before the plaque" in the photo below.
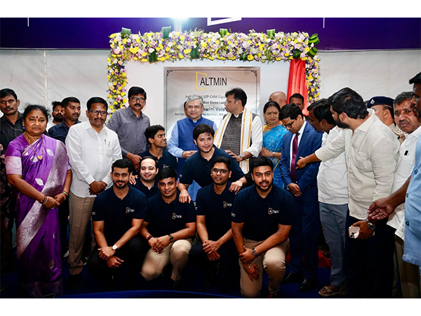
[[[396,270],[403,297],[420,297],[420,76],[395,99],[365,103],[343,88],[309,105],[308,116],[300,94],[287,103],[277,91],[264,125],[241,88],[225,93],[218,128],[191,96],[168,150],[138,86],[107,124],[104,99],[88,100],[81,122],[80,101],[65,98],[49,129],[46,107],[21,114],[4,88],[1,268],[13,254],[14,219],[22,296],[61,295],[68,256],[72,286],[81,286],[85,264],[106,283],[125,275],[127,289],[136,288],[133,275],[151,281],[171,266],[180,290],[191,261],[207,283],[240,284],[247,298],[260,296],[265,271],[276,298],[282,283],[317,286],[322,230],[332,268],[321,296],[391,297]]]

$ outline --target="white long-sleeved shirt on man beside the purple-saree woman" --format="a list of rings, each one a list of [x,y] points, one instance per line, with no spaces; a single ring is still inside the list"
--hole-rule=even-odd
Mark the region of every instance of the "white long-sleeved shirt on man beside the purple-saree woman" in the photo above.
[[[121,159],[119,136],[114,131],[104,125],[98,133],[89,121],[84,121],[70,127],[66,147],[73,175],[70,190],[74,195],[95,197],[89,195],[89,185],[95,180],[111,186],[111,165]]]

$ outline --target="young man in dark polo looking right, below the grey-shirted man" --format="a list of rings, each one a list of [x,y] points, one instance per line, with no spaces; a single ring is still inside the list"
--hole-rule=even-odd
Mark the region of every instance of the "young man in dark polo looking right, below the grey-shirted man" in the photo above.
[[[145,130],[146,140],[151,146],[146,152],[142,152],[140,157],[153,156],[158,159],[159,170],[164,166],[171,166],[177,170],[177,158],[164,148],[166,147],[165,129],[161,125],[152,125]]]

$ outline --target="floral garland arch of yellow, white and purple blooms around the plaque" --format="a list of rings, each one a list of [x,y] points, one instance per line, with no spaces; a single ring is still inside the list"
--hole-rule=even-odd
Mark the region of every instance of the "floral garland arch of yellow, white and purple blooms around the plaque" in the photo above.
[[[219,33],[202,30],[171,32],[163,27],[161,32],[131,34],[130,29],[109,36],[111,53],[108,62],[108,100],[111,112],[127,102],[126,62],[174,62],[183,59],[256,60],[260,62],[287,61],[300,58],[305,61],[309,103],[319,98],[319,55],[314,47],[319,43],[317,34],[309,37],[306,32],[232,33],[220,29]]]

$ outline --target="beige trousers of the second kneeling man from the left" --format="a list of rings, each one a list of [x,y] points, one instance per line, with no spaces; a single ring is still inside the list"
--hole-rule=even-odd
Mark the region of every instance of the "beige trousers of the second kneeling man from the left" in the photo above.
[[[171,242],[166,246],[161,254],[158,254],[152,249],[146,254],[145,261],[142,266],[142,276],[147,280],[159,277],[163,268],[171,261],[173,265],[173,273],[171,279],[177,281],[181,279],[181,272],[189,261],[189,252],[192,249],[192,241],[190,239],[180,239]]]

